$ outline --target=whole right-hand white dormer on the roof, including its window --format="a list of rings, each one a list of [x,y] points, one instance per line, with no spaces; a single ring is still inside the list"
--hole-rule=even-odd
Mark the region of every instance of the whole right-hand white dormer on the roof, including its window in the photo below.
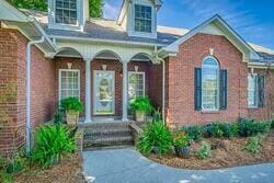
[[[118,25],[129,36],[157,38],[157,12],[161,0],[124,0]]]

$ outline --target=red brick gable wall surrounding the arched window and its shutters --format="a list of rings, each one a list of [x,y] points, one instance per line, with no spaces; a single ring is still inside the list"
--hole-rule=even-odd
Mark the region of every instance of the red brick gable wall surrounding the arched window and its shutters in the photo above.
[[[221,69],[228,70],[228,107],[203,113],[194,111],[194,68],[214,48]],[[203,125],[212,122],[236,122],[247,116],[247,65],[242,54],[224,36],[196,34],[180,46],[180,53],[167,64],[168,122],[180,125]]]

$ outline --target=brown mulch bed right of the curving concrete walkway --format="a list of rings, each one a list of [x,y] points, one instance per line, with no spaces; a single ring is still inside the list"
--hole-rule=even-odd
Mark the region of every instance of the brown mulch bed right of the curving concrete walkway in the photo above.
[[[190,159],[178,158],[174,153],[167,156],[157,156],[151,153],[147,158],[161,164],[182,169],[219,169],[238,165],[258,164],[265,162],[274,162],[274,130],[272,130],[265,139],[261,152],[252,155],[246,151],[244,147],[247,138],[233,139],[203,139],[212,145],[210,158],[201,160],[193,155],[193,151],[201,146],[194,144],[192,146],[192,156]]]

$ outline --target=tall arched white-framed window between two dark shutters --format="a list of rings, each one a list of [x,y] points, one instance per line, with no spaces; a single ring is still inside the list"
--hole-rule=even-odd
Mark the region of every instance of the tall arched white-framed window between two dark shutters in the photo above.
[[[202,64],[202,110],[219,108],[219,65],[214,57],[206,57]]]

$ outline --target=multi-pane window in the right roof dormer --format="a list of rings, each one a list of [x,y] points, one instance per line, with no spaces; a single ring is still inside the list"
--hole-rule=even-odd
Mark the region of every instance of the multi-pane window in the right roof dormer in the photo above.
[[[135,31],[151,33],[151,7],[135,4]]]

